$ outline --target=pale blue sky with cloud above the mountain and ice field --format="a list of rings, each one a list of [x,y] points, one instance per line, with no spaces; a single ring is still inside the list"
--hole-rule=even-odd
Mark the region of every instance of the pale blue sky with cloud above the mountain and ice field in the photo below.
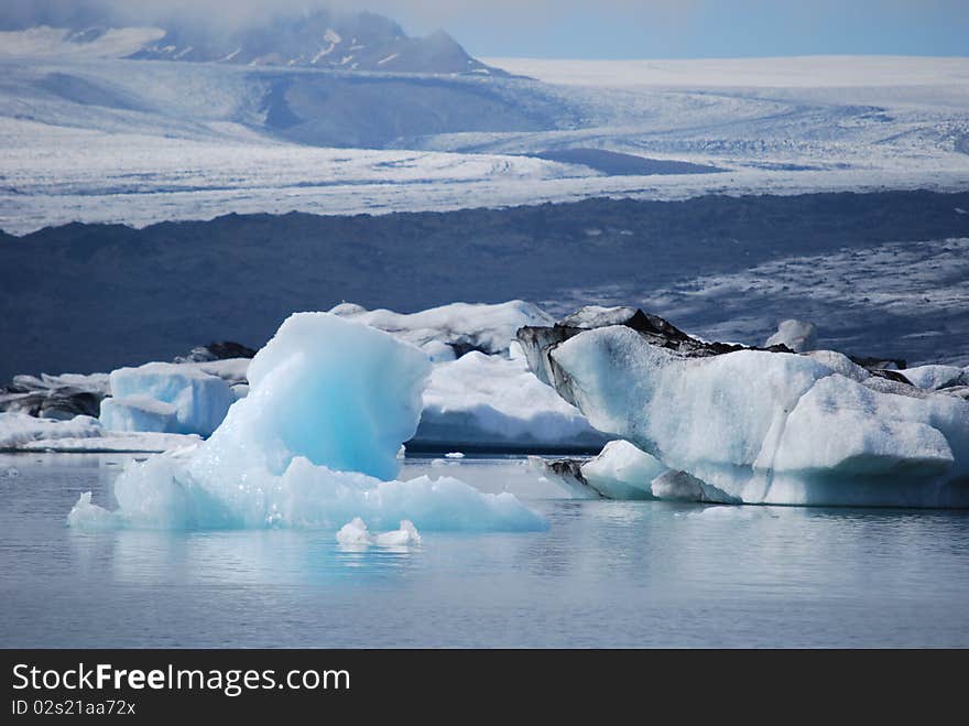
[[[443,28],[484,57],[969,55],[969,0],[0,0],[0,14],[83,4],[217,24],[329,4]]]

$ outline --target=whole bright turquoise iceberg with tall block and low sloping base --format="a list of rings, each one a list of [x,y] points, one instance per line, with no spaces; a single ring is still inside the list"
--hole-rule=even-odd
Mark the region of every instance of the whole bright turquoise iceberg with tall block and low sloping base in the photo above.
[[[73,527],[540,530],[514,496],[453,478],[394,480],[429,372],[416,347],[328,313],[297,313],[249,367],[249,394],[197,446],[131,462],[118,509],[81,495]]]

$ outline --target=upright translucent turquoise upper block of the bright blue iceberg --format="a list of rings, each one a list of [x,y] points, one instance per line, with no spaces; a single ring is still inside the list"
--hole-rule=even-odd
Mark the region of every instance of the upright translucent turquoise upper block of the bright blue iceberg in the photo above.
[[[249,367],[232,405],[193,463],[199,478],[282,474],[297,456],[339,472],[396,476],[429,370],[413,346],[325,313],[296,313]]]

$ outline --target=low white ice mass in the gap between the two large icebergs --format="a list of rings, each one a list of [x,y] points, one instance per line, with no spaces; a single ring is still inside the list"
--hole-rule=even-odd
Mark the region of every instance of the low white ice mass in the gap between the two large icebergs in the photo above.
[[[501,449],[597,449],[607,438],[513,359],[469,353],[433,367],[415,444]]]

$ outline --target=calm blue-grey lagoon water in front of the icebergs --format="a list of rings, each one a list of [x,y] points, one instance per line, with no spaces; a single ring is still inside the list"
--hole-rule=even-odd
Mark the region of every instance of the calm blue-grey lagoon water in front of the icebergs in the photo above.
[[[564,499],[520,458],[407,459],[546,532],[81,532],[119,455],[0,455],[3,647],[969,646],[969,511]]]

